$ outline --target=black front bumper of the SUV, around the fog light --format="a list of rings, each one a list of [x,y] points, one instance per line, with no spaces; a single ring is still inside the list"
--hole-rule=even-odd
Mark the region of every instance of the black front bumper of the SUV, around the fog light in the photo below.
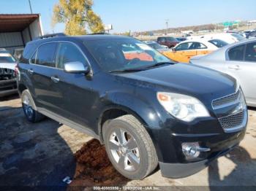
[[[216,118],[198,120],[189,125],[170,121],[172,125],[164,128],[147,128],[156,147],[162,176],[181,178],[195,174],[236,147],[246,132],[248,114],[246,110],[244,112],[243,126],[230,132],[225,132]],[[184,154],[182,144],[195,142],[207,150],[189,158]]]

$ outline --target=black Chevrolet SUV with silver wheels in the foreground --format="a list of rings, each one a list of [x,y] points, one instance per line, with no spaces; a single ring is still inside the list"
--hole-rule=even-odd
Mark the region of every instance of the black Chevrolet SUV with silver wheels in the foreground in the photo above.
[[[44,116],[99,139],[114,167],[143,179],[195,174],[244,138],[247,109],[233,77],[183,63],[127,36],[29,42],[18,90],[31,122]]]

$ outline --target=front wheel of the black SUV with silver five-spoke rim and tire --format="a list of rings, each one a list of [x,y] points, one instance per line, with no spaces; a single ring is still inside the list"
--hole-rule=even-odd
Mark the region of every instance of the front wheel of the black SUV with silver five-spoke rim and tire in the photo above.
[[[102,128],[108,157],[128,179],[143,179],[157,167],[154,144],[143,125],[127,114],[108,120]]]

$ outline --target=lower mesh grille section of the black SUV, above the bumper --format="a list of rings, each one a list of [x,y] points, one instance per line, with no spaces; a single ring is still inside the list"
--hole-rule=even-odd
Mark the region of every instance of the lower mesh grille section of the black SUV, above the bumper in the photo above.
[[[219,118],[219,122],[222,125],[222,128],[226,131],[243,128],[245,125],[245,120],[246,111]]]

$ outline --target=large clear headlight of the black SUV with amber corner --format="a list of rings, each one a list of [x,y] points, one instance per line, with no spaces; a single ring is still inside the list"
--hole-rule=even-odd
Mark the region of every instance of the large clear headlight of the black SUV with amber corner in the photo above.
[[[157,99],[167,112],[179,120],[190,122],[197,117],[210,116],[206,107],[189,95],[159,92]]]

